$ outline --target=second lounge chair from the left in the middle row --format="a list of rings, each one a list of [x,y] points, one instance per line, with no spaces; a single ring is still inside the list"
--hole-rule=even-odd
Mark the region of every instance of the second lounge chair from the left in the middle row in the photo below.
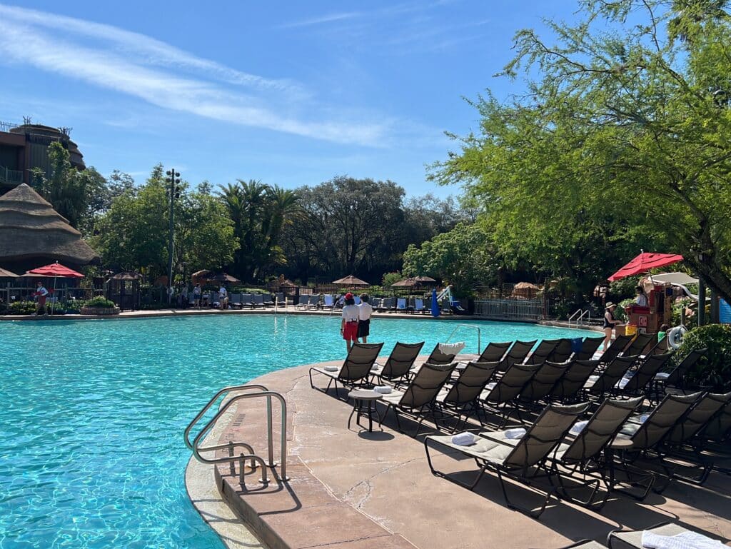
[[[470,362],[467,363],[458,378],[452,385],[445,385],[436,397],[439,408],[457,417],[457,423],[452,431],[461,428],[466,423],[470,411],[477,412],[477,399],[482,390],[497,371],[499,362]]]

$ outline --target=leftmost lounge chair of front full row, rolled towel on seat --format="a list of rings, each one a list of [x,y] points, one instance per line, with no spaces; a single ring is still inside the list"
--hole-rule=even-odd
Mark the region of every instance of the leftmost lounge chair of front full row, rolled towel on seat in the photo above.
[[[507,496],[506,478],[536,488],[534,479],[546,477],[543,466],[550,453],[558,446],[577,417],[586,412],[588,403],[574,404],[573,406],[547,406],[520,438],[512,438],[508,431],[487,431],[474,436],[474,444],[461,446],[452,442],[452,436],[432,435],[424,439],[424,449],[431,473],[437,477],[455,482],[469,490],[474,490],[486,471],[494,472],[502,488],[505,502],[510,509],[524,512],[537,518],[548,505],[550,496],[556,493],[556,488],[550,488],[543,504],[534,511],[520,507],[510,501]],[[450,450],[450,454],[461,453],[474,458],[480,471],[474,481],[467,483],[457,480],[448,474],[434,469],[429,446],[443,447]]]

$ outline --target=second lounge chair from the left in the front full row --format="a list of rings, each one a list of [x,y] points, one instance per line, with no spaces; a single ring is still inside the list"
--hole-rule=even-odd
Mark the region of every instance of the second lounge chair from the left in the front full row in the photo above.
[[[601,482],[599,479],[587,480],[588,473],[601,471],[596,469],[595,463],[603,463],[605,460],[602,453],[605,448],[617,436],[618,431],[626,422],[632,412],[640,406],[643,398],[637,397],[629,400],[618,401],[607,398],[596,409],[596,412],[587,420],[576,423],[569,430],[569,437],[565,444],[558,448],[556,453],[549,456],[551,471],[556,475],[558,485],[560,486],[560,496],[562,499],[572,501],[572,503],[580,504],[584,507],[591,507],[599,510],[604,507],[610,494],[610,485],[607,483],[607,490],[602,499],[598,499],[599,487]],[[561,466],[561,469],[559,469]],[[564,473],[569,471],[569,474]],[[580,485],[573,485],[577,481],[576,476],[580,475]],[[564,477],[572,477],[572,486],[567,486],[563,480]],[[601,478],[605,478],[605,474]],[[575,499],[570,496],[570,491],[577,489],[590,488],[586,499]]]

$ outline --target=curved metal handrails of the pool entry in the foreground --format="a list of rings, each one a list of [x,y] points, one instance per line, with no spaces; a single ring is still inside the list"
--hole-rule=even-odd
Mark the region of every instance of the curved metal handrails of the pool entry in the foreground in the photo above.
[[[240,394],[233,395],[229,400],[221,404],[219,411],[216,412],[216,415],[213,416],[213,419],[206,423],[204,427],[200,430],[200,432],[191,441],[190,433],[194,425],[196,425],[201,420],[203,415],[205,415],[205,412],[208,412],[208,409],[210,409],[211,406],[213,406],[213,404],[219,398],[221,398],[222,395],[233,392],[238,392]],[[251,447],[251,444],[243,441],[229,441],[226,444],[214,444],[213,446],[205,447],[200,446],[202,440],[213,428],[213,425],[216,425],[216,421],[218,421],[219,418],[223,416],[231,406],[233,406],[233,404],[237,403],[238,401],[249,400],[251,398],[266,398],[268,445],[267,461],[265,461],[264,458],[262,458],[260,455],[254,453],[254,448]],[[282,482],[287,482],[289,480],[289,478],[287,477],[287,401],[284,400],[284,397],[281,394],[268,390],[267,387],[265,387],[264,385],[235,385],[232,387],[224,387],[223,389],[221,389],[218,393],[216,393],[213,398],[211,398],[210,401],[208,401],[208,404],[203,406],[203,409],[198,412],[194,420],[192,420],[192,422],[189,423],[189,425],[186,427],[185,433],[183,433],[186,446],[189,447],[189,449],[192,451],[194,458],[196,458],[197,461],[200,461],[201,463],[230,463],[232,475],[236,474],[235,463],[238,462],[239,482],[241,485],[244,484],[244,466],[246,464],[246,461],[249,461],[252,471],[255,471],[257,469],[258,464],[262,469],[262,477],[260,482],[264,485],[268,484],[269,480],[267,476],[267,468],[274,468],[277,466],[277,463],[274,461],[274,439],[272,433],[272,398],[276,398],[281,406],[281,474],[279,475],[279,479]],[[235,455],[235,451],[239,447],[243,448],[246,453],[239,453],[239,455]],[[202,453],[215,452],[216,450],[223,449],[228,450],[228,455],[224,455],[219,458],[206,458],[202,455]]]

